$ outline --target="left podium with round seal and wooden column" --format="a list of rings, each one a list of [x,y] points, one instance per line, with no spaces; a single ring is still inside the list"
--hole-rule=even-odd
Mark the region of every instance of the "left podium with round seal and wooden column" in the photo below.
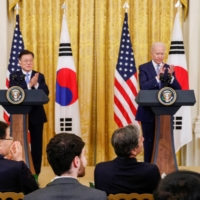
[[[28,113],[33,105],[46,104],[49,98],[43,90],[23,90],[13,86],[8,90],[0,90],[0,105],[10,114],[10,132],[14,141],[20,141],[23,147],[23,160],[32,174],[35,169],[28,143]]]

